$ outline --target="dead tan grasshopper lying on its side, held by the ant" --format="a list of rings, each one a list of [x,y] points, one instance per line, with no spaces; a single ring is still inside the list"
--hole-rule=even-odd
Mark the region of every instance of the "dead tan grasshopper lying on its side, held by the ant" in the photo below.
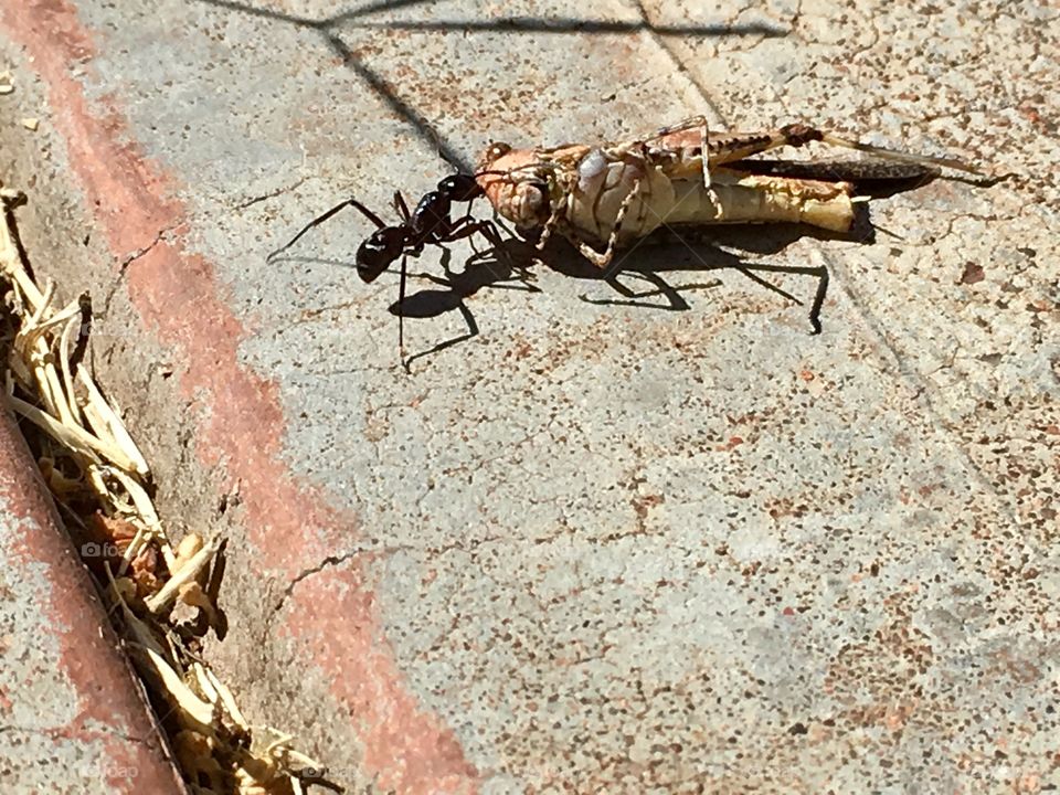
[[[607,272],[617,248],[664,225],[795,222],[849,231],[851,181],[741,170],[756,162],[743,162],[752,155],[810,141],[901,161],[913,169],[903,179],[934,176],[941,168],[978,173],[960,160],[882,149],[805,124],[708,134],[706,119],[697,116],[621,142],[532,149],[495,142],[479,159],[477,179],[500,215],[519,227],[541,230],[539,248],[559,232]]]

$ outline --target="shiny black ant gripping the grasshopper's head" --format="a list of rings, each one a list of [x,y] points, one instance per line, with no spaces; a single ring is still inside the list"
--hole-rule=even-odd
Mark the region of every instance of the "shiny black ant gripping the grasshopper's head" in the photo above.
[[[317,226],[344,208],[352,206],[365,215],[377,229],[357,250],[357,273],[365,283],[374,282],[400,256],[401,285],[398,293],[398,346],[404,359],[404,322],[402,307],[405,300],[405,272],[409,256],[420,256],[423,247],[431,243],[444,246],[447,243],[470,237],[476,232],[486,237],[494,248],[501,246],[500,235],[491,221],[481,221],[471,215],[471,203],[485,194],[476,181],[477,174],[455,173],[438,182],[437,189],[425,193],[411,213],[401,191],[394,191],[394,209],[401,215],[395,226],[384,224],[375,213],[357,199],[347,199],[317,216],[303,227],[290,241],[268,255],[266,262],[286,251],[309,230]],[[451,218],[454,202],[467,202],[467,212],[455,221]],[[407,365],[406,365],[407,369]]]

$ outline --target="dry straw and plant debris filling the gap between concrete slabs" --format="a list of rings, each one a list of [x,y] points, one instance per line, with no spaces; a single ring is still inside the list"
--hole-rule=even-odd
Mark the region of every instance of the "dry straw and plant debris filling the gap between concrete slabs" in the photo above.
[[[84,360],[88,296],[60,307],[56,285],[41,289],[29,271],[14,225],[24,201],[0,183],[2,400],[38,431],[31,444],[41,473],[116,618],[189,789],[300,795],[318,784],[337,791],[319,764],[293,748],[292,736],[251,727],[198,654],[210,628],[224,634],[216,604],[223,541],[195,533],[176,548],[169,541],[151,500],[150,468]]]

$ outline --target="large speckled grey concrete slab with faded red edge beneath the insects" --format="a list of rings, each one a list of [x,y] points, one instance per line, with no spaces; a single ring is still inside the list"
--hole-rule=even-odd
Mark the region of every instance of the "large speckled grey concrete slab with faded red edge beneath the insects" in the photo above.
[[[3,135],[81,197],[99,365],[170,515],[234,539],[214,654],[252,719],[402,793],[1060,786],[1060,9],[325,6],[3,18],[44,119]],[[1011,176],[875,201],[875,239],[638,250],[624,283],[685,311],[562,252],[415,278],[413,351],[460,303],[480,333],[411,377],[396,277],[346,267],[367,221],[264,259],[438,148],[696,112]],[[826,265],[824,333],[744,264]]]

